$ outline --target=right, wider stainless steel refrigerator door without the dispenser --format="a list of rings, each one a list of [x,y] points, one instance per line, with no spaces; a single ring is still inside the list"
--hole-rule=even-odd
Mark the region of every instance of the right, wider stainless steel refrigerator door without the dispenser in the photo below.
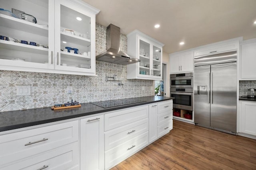
[[[236,89],[236,63],[211,65],[211,127],[236,132]]]

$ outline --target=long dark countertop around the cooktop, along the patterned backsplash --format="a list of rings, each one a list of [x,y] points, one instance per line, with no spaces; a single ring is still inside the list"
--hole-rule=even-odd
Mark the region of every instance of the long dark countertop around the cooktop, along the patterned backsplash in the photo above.
[[[26,110],[0,112],[0,131],[7,131],[7,130],[18,129],[22,127],[40,125],[44,123],[50,123],[50,122],[60,121],[65,119],[71,119],[75,117],[93,115],[96,113],[103,113],[106,111],[114,111],[117,109],[124,109],[128,107],[161,102],[165,100],[172,100],[174,98],[163,97],[163,96],[147,96],[147,97],[132,98],[132,99],[141,100],[144,102],[116,106],[116,107],[109,107],[109,108],[102,108],[94,104],[84,103],[84,104],[81,104],[81,107],[75,107],[75,108],[69,108],[69,109],[52,110],[51,107],[43,107],[38,109],[26,109]]]

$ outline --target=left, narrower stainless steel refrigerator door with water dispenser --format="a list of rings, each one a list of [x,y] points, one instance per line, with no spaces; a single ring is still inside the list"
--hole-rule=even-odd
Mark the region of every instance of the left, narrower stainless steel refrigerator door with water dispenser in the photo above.
[[[194,68],[194,122],[210,127],[210,65]]]

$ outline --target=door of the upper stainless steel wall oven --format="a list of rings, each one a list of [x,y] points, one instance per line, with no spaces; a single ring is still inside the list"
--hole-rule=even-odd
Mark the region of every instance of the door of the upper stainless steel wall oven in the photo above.
[[[193,88],[193,77],[170,78],[171,88]]]

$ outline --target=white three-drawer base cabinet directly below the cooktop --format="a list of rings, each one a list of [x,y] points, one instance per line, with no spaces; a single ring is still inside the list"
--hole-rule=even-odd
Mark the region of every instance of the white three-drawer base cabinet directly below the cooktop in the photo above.
[[[148,145],[148,105],[105,114],[105,169]]]

